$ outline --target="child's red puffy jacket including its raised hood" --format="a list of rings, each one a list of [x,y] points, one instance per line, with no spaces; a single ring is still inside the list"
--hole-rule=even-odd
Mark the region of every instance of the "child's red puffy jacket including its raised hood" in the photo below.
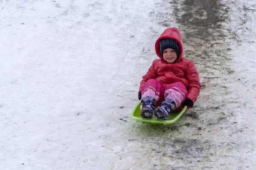
[[[174,39],[180,45],[180,56],[177,57],[176,61],[173,63],[166,62],[161,56],[160,40],[163,38]],[[140,82],[139,92],[141,91],[142,85],[144,85],[148,79],[157,79],[164,86],[174,82],[182,82],[188,91],[187,98],[191,99],[194,103],[200,93],[201,84],[195,64],[183,58],[183,42],[179,30],[174,27],[167,28],[157,39],[155,49],[160,59],[155,59],[148,69],[148,72],[142,77],[143,80]]]

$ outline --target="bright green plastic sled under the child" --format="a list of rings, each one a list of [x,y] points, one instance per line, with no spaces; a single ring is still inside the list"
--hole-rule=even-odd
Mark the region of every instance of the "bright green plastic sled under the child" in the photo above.
[[[140,102],[138,102],[138,104],[135,106],[135,108],[131,112],[132,119],[135,119],[140,122],[150,122],[153,124],[164,124],[164,125],[171,125],[174,122],[176,122],[180,118],[180,116],[186,111],[186,108],[187,108],[187,106],[184,106],[182,111],[172,112],[171,114],[169,114],[167,120],[161,120],[161,119],[157,119],[154,115],[153,115],[152,119],[141,117],[140,116],[140,112],[141,112],[140,105],[141,105]]]

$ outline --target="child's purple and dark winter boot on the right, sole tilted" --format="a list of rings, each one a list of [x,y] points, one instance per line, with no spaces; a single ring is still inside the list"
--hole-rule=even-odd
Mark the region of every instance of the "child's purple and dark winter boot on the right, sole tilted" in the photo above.
[[[161,106],[155,109],[154,115],[157,116],[158,119],[167,120],[168,115],[175,109],[175,107],[175,101],[166,97]]]

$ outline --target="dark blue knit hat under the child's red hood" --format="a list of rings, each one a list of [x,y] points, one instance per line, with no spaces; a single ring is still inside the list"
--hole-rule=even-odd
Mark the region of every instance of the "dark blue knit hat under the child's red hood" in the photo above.
[[[169,38],[163,38],[160,40],[160,51],[161,51],[161,56],[163,57],[163,51],[166,48],[172,48],[175,50],[177,54],[177,59],[180,57],[180,45],[177,41]]]

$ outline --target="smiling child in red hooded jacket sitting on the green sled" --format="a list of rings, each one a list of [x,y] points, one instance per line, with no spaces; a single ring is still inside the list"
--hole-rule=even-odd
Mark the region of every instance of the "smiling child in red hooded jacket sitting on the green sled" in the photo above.
[[[167,28],[155,44],[155,59],[140,82],[141,116],[166,120],[181,106],[192,108],[201,84],[195,64],[183,58],[183,42],[177,28]],[[158,106],[157,108],[155,108]]]

